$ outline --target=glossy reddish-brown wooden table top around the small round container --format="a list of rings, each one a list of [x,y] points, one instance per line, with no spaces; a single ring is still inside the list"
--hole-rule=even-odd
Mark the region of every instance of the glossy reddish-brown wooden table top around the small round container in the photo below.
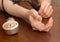
[[[34,31],[24,20],[14,17],[20,24],[20,30],[13,36],[6,35],[2,30],[2,24],[8,17],[13,16],[0,12],[0,42],[60,42],[60,7],[54,6],[53,8],[54,25],[48,33]]]

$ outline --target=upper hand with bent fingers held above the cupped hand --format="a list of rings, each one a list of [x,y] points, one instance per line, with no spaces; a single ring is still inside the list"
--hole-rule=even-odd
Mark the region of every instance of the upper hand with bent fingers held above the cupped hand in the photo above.
[[[40,7],[38,13],[42,17],[48,18],[48,17],[51,16],[52,12],[53,12],[53,8],[52,8],[52,6],[50,5],[49,2],[47,2],[47,1],[41,2],[41,7]]]

